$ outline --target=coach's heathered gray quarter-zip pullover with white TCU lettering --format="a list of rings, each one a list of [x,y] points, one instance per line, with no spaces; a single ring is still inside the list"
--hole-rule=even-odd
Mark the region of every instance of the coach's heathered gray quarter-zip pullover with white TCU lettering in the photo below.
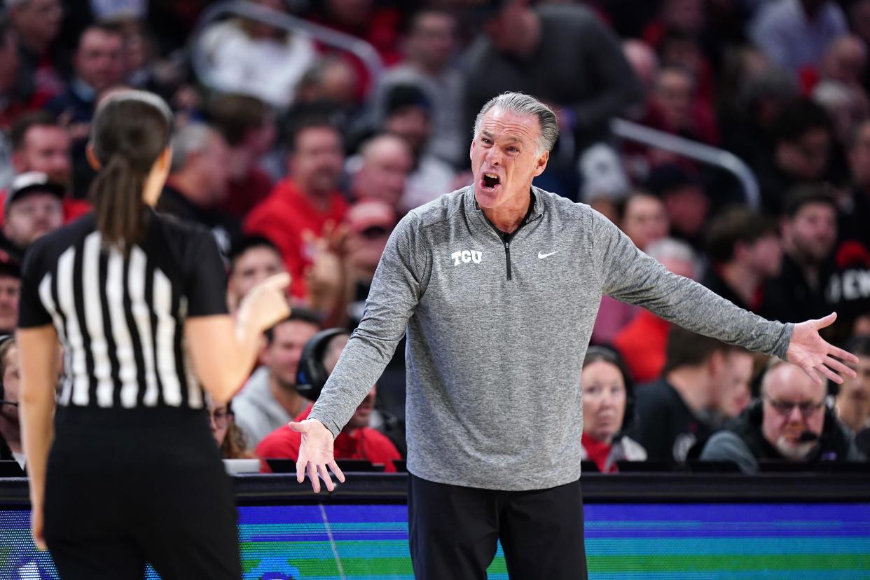
[[[580,475],[580,369],[602,294],[785,356],[791,324],[669,272],[588,205],[532,192],[509,242],[472,186],[398,223],[365,316],[309,417],[337,435],[406,330],[408,470],[438,483],[546,489]]]

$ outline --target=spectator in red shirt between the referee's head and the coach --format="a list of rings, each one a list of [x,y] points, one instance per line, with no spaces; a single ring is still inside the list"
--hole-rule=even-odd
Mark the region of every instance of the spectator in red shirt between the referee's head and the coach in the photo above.
[[[249,234],[269,238],[293,277],[291,292],[305,297],[305,270],[311,266],[303,232],[324,234],[326,223],[345,218],[347,201],[338,190],[345,151],[338,129],[325,119],[304,119],[292,130],[287,156],[289,176],[278,183],[244,223]]]

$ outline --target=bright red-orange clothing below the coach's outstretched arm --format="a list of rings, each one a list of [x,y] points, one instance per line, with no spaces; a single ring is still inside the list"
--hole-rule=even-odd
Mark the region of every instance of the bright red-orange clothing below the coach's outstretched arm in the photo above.
[[[670,330],[671,323],[649,310],[640,310],[613,339],[613,347],[625,359],[636,382],[648,383],[661,374]]]

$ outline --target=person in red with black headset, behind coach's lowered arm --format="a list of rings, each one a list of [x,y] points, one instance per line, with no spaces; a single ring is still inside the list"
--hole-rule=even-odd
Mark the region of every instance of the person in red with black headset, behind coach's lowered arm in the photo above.
[[[317,340],[314,337],[312,340]],[[319,349],[311,349],[311,356],[322,356],[323,365],[326,375],[331,373],[338,363],[338,357],[341,356],[341,351],[344,350],[347,344],[348,335],[338,334],[327,339],[327,343],[322,349],[322,354],[316,352]],[[308,349],[306,349],[308,350]],[[300,367],[302,366],[300,361]],[[395,471],[396,466],[392,463],[394,460],[401,459],[396,446],[393,445],[385,435],[378,430],[371,429],[369,425],[369,417],[375,405],[375,387],[371,387],[369,394],[359,403],[356,412],[354,412],[351,420],[345,425],[345,428],[338,433],[338,437],[334,442],[334,453],[336,459],[365,459],[374,464],[384,464],[385,471]],[[311,412],[313,403],[308,409],[303,411],[296,417],[296,421],[304,421],[308,418],[308,413]],[[302,443],[302,435],[297,431],[292,430],[286,425],[272,431],[269,435],[258,444],[256,455],[261,459],[260,470],[268,473],[268,463],[266,458],[288,458],[296,461],[299,457],[299,445]]]

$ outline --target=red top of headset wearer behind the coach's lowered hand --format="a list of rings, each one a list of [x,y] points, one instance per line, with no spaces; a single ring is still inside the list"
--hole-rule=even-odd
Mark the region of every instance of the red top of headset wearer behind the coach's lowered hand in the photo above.
[[[311,406],[296,417],[296,421],[302,421],[311,412]],[[302,435],[284,425],[272,431],[257,445],[254,454],[260,458],[260,471],[271,473],[269,464],[265,462],[269,458],[292,459],[299,457],[299,445],[302,443]],[[336,459],[365,459],[375,464],[384,464],[384,470],[394,472],[396,466],[393,461],[401,459],[396,446],[380,431],[363,427],[352,430],[350,433],[342,430],[335,438],[334,454]]]

